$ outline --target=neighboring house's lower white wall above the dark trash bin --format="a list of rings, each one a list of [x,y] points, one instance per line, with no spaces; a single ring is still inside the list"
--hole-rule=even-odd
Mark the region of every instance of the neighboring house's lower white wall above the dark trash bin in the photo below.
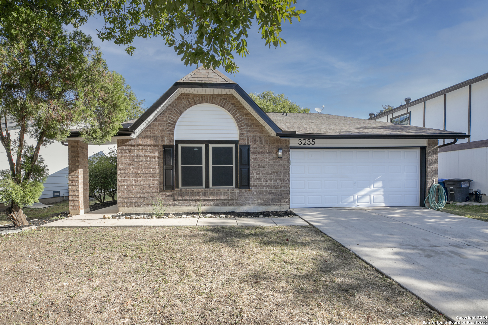
[[[439,178],[472,179],[470,189],[488,191],[488,148],[439,153]]]

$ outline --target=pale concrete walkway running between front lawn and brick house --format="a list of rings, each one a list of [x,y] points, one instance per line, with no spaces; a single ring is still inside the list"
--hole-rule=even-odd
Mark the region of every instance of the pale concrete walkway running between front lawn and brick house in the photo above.
[[[102,219],[103,213],[93,213],[93,212],[79,214],[69,218],[64,218],[61,220],[50,222],[48,224],[44,224],[40,227],[70,228],[70,227],[141,227],[141,226],[308,226],[308,224],[305,221],[303,221],[298,217],[297,218]]]

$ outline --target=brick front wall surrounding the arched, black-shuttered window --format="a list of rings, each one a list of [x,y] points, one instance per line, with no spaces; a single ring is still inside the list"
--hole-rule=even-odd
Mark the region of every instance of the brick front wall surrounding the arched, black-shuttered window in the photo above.
[[[203,103],[227,110],[239,128],[239,144],[250,145],[251,190],[163,190],[163,145],[174,144],[174,128],[180,115]],[[278,148],[283,148],[283,158],[277,157]],[[170,207],[194,207],[193,210],[200,200],[204,210],[214,210],[212,207],[239,210],[251,206],[263,210],[289,206],[289,140],[270,136],[232,95],[178,96],[137,138],[117,140],[117,155],[120,211],[150,211],[157,198],[162,198]]]

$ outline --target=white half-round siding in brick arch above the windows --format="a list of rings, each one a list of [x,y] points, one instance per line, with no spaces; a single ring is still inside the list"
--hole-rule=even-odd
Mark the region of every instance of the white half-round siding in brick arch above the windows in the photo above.
[[[222,107],[198,104],[184,111],[176,122],[175,140],[239,140],[239,129]]]

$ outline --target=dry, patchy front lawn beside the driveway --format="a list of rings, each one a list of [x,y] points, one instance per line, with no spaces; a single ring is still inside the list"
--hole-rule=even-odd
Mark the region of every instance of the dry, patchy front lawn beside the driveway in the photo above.
[[[0,324],[445,320],[310,226],[43,229],[0,256]]]

